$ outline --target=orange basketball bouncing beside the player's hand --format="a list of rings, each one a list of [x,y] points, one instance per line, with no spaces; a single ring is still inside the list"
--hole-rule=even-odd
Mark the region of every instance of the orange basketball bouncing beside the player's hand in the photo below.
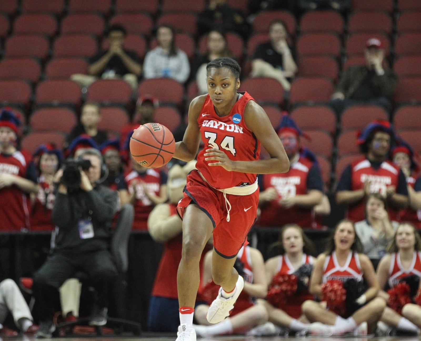
[[[130,139],[130,153],[138,164],[159,168],[167,164],[176,150],[171,131],[159,123],[139,126]]]

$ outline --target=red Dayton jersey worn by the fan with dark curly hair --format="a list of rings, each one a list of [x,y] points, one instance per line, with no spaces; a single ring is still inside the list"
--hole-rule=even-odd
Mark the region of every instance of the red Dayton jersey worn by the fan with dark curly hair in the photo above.
[[[370,161],[365,157],[354,161],[352,167],[352,190],[364,188],[364,182],[371,182],[370,192],[386,195],[386,188],[395,186],[397,188],[399,178],[399,167],[391,161],[384,161],[378,169],[371,167]],[[398,220],[399,211],[389,208],[389,217],[391,220]],[[359,222],[365,219],[365,201],[350,205],[348,208],[348,219],[353,222]]]

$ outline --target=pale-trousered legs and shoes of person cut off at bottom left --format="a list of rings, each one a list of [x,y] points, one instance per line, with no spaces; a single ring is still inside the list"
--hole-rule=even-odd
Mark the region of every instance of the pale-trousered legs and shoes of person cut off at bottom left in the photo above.
[[[19,287],[10,278],[0,282],[0,336],[18,336],[15,330],[3,325],[9,312],[13,315],[16,327],[26,334],[35,333],[38,326],[34,324],[28,304]]]

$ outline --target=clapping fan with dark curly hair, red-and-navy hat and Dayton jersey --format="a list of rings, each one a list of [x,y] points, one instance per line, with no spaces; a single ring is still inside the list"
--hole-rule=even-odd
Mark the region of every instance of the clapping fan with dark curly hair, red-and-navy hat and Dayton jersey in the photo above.
[[[405,175],[388,160],[395,140],[390,123],[382,120],[368,124],[357,139],[364,156],[344,169],[336,187],[336,202],[347,206],[346,215],[353,222],[365,219],[365,200],[370,193],[386,197],[392,220],[399,221],[398,210],[408,206]]]

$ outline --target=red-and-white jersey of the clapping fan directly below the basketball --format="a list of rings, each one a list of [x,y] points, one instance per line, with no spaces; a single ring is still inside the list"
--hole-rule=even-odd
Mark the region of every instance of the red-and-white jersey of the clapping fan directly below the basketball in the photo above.
[[[133,193],[131,186],[132,182],[136,184],[136,201],[134,202],[134,221],[133,230],[144,230],[148,229],[147,221],[149,213],[154,208],[153,202],[148,198],[143,188],[143,183],[146,184],[149,192],[155,193],[159,196],[161,188],[161,174],[155,169],[148,169],[146,173],[139,174],[135,170],[129,172],[125,176],[125,182],[127,183],[129,193]]]

